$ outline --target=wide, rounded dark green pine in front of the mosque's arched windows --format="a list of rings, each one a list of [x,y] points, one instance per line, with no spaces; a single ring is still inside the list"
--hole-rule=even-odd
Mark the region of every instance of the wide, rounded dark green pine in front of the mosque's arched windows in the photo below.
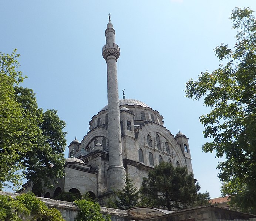
[[[140,193],[147,206],[168,210],[182,210],[193,206],[197,200],[199,184],[185,167],[174,167],[161,162],[143,177]]]

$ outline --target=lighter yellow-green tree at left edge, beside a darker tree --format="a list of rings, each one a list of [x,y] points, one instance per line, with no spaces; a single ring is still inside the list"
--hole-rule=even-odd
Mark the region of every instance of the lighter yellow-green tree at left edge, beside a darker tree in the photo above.
[[[36,119],[24,117],[23,108],[15,99],[14,86],[24,80],[16,70],[18,56],[16,50],[11,55],[0,52],[0,189],[8,182],[20,185],[24,171],[21,161],[40,133],[34,125]]]

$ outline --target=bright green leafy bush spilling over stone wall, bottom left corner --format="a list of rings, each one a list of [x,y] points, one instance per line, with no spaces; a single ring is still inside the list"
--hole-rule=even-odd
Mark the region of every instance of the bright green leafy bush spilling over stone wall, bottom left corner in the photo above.
[[[22,221],[30,215],[33,217],[31,220],[64,221],[60,211],[48,209],[33,193],[23,193],[16,198],[0,195],[0,220]]]

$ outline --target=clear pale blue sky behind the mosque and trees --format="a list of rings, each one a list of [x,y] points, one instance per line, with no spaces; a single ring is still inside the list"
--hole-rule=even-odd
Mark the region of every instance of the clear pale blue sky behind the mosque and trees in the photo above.
[[[256,10],[255,0],[13,1],[0,0],[0,51],[20,53],[21,84],[37,94],[38,106],[56,109],[66,122],[69,144],[82,140],[88,122],[107,104],[102,58],[108,13],[121,48],[119,97],[145,102],[164,117],[165,127],[189,139],[201,191],[220,196],[214,153],[203,153],[203,101],[185,97],[185,83],[215,70],[213,49],[233,46],[228,19],[235,7]],[[67,157],[67,150],[65,151]]]

